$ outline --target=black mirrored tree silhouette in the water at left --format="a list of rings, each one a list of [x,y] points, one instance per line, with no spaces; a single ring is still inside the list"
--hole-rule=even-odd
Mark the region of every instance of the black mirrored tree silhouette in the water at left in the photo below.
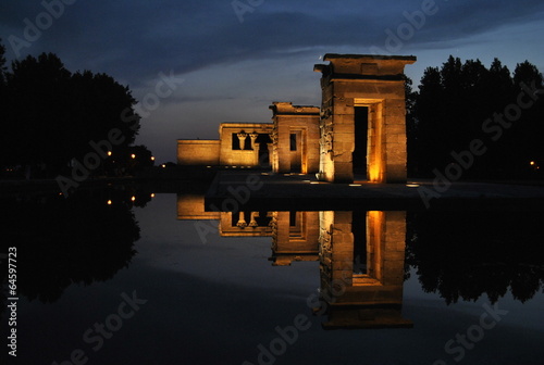
[[[81,190],[67,199],[44,194],[0,199],[5,225],[0,252],[17,249],[18,297],[51,303],[73,284],[104,281],[127,267],[139,239],[131,209],[145,206],[150,199],[150,192],[126,187]],[[2,282],[7,273],[1,270]]]

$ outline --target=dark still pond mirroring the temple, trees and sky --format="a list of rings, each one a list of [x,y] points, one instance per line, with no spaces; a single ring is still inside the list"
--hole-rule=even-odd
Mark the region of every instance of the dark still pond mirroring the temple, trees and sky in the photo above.
[[[18,364],[544,364],[542,213],[0,200],[10,363],[15,328]]]

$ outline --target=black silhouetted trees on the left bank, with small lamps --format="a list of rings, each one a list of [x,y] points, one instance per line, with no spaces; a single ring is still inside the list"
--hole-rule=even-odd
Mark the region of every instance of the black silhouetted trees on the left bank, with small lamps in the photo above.
[[[127,173],[138,162],[136,156],[152,164],[145,146],[133,146],[140,117],[134,112],[136,100],[128,87],[107,74],[72,73],[53,53],[28,55],[13,61],[8,70],[4,52],[0,45],[3,176],[70,176],[71,168],[83,164],[88,153],[108,156],[92,162],[95,175]],[[131,123],[123,122],[127,111]],[[104,149],[108,143],[100,142],[107,141],[112,130],[119,130],[119,143],[111,151],[97,153],[96,146]]]

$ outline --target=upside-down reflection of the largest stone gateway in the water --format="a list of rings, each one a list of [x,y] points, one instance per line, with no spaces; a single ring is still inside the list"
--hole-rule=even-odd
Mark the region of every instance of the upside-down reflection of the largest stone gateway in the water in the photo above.
[[[354,212],[321,212],[320,229],[323,327],[412,327],[401,316],[406,213],[368,212],[356,221]],[[361,261],[362,272],[355,267]]]

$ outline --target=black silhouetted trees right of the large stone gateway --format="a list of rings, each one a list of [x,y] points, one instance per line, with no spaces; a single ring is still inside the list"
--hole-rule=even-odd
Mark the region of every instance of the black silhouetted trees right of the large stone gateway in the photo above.
[[[442,67],[425,70],[419,91],[407,83],[408,169],[433,176],[453,155],[481,141],[468,178],[541,177],[544,169],[543,76],[528,61],[514,73],[495,59],[449,56]]]

